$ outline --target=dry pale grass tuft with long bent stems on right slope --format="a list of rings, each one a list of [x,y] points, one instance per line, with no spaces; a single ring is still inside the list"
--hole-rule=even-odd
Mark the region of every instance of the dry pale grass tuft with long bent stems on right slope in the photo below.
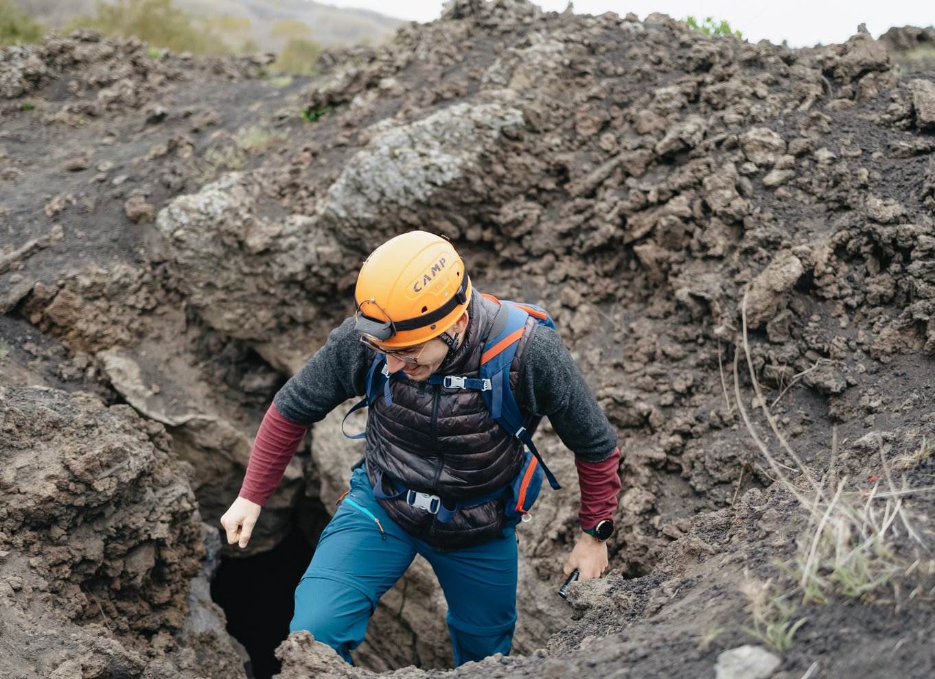
[[[789,446],[756,380],[747,337],[746,302],[744,296],[742,347],[734,357],[735,402],[747,431],[769,464],[772,477],[796,498],[808,515],[806,527],[798,539],[796,556],[782,564],[787,587],[772,580],[762,584],[751,581],[745,587],[751,602],[753,626],[743,629],[777,651],[783,651],[805,623],[805,618],[797,615],[801,605],[825,602],[835,595],[869,601],[872,593],[886,584],[899,587],[900,578],[916,568],[935,570],[935,560],[912,560],[913,556],[930,549],[913,529],[903,502],[910,492],[920,492],[920,489],[910,491],[904,478],[898,482],[892,471],[893,462],[886,460],[882,443],[879,455],[885,476],[870,491],[849,483],[846,477],[836,478],[836,429],[831,433],[829,470],[821,478]],[[776,459],[744,405],[740,382],[741,348],[755,392],[751,405],[759,408],[775,440],[788,459],[794,461],[794,466]],[[935,445],[923,441],[918,450],[893,461],[900,469],[907,469],[933,452]],[[905,556],[909,554],[913,556]]]

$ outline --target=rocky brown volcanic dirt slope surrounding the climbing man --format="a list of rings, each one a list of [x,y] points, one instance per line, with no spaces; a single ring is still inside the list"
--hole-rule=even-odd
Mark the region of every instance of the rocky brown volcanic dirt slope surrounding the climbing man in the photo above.
[[[624,453],[615,570],[573,586],[569,608],[554,591],[573,470],[542,432],[569,489],[524,526],[516,653],[458,675],[929,676],[935,75],[896,65],[900,35],[788,50],[501,1],[332,53],[315,81],[90,34],[4,50],[0,456],[56,469],[29,426],[71,431],[128,403],[216,525],[266,403],[349,312],[359,262],[394,233],[445,233],[480,290],[553,312]],[[316,426],[252,552],[295,527],[313,542],[359,454],[335,420]],[[110,601],[120,571],[50,580],[79,554],[28,499],[79,473],[5,474],[0,610],[96,626],[104,641],[75,643],[84,676],[112,672],[94,659],[105,641],[137,654],[126,675],[156,675],[156,657],[207,675],[185,658],[230,641],[180,631],[194,567],[158,629],[108,627],[107,603],[30,609],[27,589]],[[128,571],[139,601],[179,538],[153,540]],[[450,666],[443,610],[416,569],[374,618],[367,669],[299,634],[281,676]],[[755,669],[730,673],[739,657]]]

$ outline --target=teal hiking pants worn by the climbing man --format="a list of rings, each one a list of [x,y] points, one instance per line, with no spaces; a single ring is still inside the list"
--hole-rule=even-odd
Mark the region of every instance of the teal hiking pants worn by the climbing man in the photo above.
[[[379,522],[379,523],[378,523]],[[295,589],[290,631],[308,629],[348,662],[381,596],[420,554],[439,578],[454,663],[508,655],[516,624],[516,537],[439,551],[397,526],[373,497],[364,469],[322,533]]]

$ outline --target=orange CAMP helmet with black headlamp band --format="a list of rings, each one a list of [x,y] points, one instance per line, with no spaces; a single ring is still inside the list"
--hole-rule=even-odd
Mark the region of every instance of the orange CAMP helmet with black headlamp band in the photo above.
[[[375,249],[357,276],[356,330],[381,347],[414,347],[461,318],[471,295],[465,264],[434,233],[402,233]]]

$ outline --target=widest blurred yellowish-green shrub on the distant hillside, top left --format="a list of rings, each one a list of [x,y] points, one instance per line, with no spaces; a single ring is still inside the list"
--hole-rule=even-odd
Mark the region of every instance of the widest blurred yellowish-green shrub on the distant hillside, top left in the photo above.
[[[68,23],[67,30],[94,28],[105,35],[136,35],[153,46],[195,54],[230,54],[231,49],[209,26],[194,21],[172,0],[113,0],[97,3],[93,17]]]

